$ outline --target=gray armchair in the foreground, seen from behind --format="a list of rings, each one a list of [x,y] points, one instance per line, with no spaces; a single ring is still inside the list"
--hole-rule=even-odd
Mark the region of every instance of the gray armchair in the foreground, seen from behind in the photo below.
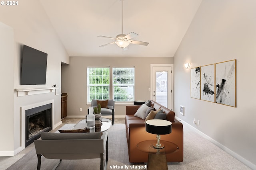
[[[104,150],[108,161],[108,132],[95,133],[41,133],[42,140],[35,140],[38,158],[37,170],[41,167],[41,156],[48,159],[93,159],[100,158],[100,170],[104,169]],[[58,146],[58,147],[56,147]],[[93,147],[92,147],[93,146]],[[58,164],[54,167],[56,169]]]

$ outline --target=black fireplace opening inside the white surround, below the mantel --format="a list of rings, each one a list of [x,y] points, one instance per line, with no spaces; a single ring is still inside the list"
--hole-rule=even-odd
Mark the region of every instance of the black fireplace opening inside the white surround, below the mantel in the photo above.
[[[26,110],[26,147],[52,130],[52,104]]]

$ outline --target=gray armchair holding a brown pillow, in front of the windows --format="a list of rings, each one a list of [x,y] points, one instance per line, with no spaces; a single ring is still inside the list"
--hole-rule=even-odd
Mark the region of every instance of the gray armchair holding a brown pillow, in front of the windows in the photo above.
[[[97,100],[92,100],[92,107],[98,106]],[[88,113],[89,114],[89,113]],[[104,115],[112,115],[112,125],[114,125],[115,121],[115,101],[113,99],[108,100],[108,108],[101,108],[101,114]]]

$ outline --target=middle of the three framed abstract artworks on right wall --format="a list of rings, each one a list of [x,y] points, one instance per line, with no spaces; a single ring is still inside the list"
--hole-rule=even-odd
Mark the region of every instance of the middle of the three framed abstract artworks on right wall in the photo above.
[[[201,66],[201,100],[215,102],[215,64]]]

